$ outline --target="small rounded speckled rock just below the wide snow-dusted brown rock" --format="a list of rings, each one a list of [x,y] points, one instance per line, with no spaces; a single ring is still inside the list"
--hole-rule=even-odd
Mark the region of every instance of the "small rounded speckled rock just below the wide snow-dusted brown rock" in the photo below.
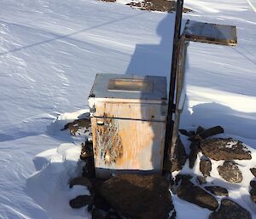
[[[242,181],[241,171],[233,161],[225,161],[222,166],[218,166],[218,174],[227,182],[239,183]]]

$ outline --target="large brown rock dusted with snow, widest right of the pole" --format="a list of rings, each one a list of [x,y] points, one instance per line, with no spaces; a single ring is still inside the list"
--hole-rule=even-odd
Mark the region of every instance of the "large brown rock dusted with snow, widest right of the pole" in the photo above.
[[[248,151],[241,141],[232,138],[207,139],[200,143],[201,152],[214,160],[251,159]]]

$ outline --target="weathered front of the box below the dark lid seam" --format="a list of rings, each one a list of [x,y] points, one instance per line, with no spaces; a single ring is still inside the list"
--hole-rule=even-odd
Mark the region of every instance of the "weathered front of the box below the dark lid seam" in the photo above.
[[[161,172],[165,123],[115,118],[91,118],[91,122],[97,177]]]

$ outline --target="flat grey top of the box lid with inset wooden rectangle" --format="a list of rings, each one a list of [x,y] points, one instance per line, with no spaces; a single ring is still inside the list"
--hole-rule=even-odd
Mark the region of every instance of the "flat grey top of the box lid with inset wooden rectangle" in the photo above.
[[[166,77],[96,74],[89,98],[166,101]]]

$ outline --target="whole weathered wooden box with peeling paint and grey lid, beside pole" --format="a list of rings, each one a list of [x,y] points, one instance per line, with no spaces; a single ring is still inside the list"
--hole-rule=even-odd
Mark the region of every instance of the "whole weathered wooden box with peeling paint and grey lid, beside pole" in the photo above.
[[[89,105],[97,177],[162,171],[165,77],[97,74]]]

